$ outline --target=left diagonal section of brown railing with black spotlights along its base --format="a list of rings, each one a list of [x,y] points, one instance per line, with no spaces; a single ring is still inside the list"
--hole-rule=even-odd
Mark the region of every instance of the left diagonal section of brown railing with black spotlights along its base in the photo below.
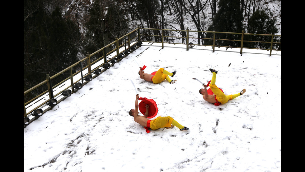
[[[138,43],[139,40],[139,37],[136,37],[138,35],[138,30],[139,29],[137,28],[127,33],[123,37],[116,38],[114,42],[111,42],[105,47],[97,50],[96,52],[93,52],[92,54],[87,53],[87,56],[85,58],[67,67],[66,69],[60,71],[54,76],[49,76],[49,74],[47,74],[45,81],[42,81],[36,86],[24,91],[23,92],[24,123],[26,122],[28,125],[33,120],[36,120],[38,117],[42,115],[41,114],[34,116],[35,110],[37,109],[41,110],[42,107],[47,106],[47,108],[43,110],[43,113],[45,113],[46,111],[52,109],[54,105],[57,105],[60,101],[63,101],[67,97],[63,95],[64,91],[68,90],[71,91],[71,94],[73,94],[75,91],[77,91],[77,89],[75,88],[76,84],[82,87],[84,84],[86,84],[87,82],[98,76],[99,74],[101,74],[103,71],[106,71],[109,67],[113,66],[115,62],[120,61],[122,58],[124,58],[124,56],[126,56],[126,50],[136,48],[137,46],[136,44]],[[120,45],[119,42],[121,42]],[[132,44],[132,42],[134,44]],[[109,52],[106,52],[107,48],[110,49]],[[115,56],[110,58],[109,56],[110,54],[111,55],[115,54]],[[92,57],[95,57],[94,59],[96,60],[91,61]],[[103,70],[99,69],[101,67],[103,67],[104,69]],[[72,72],[73,68],[74,69],[77,68],[79,70],[73,73]],[[53,86],[54,83],[52,83],[52,81],[56,77],[67,73],[69,75],[67,78],[60,81],[59,83],[56,83],[56,85]],[[39,87],[42,88],[46,87],[45,91],[35,96],[31,100],[26,101],[25,100],[26,95]],[[58,97],[60,98],[59,100],[57,100]],[[33,118],[30,119],[29,117],[33,117]]]

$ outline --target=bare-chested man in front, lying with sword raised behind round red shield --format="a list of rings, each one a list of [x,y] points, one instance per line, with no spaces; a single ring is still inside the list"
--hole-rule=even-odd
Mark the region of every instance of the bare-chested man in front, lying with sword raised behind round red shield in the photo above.
[[[149,128],[151,130],[157,130],[159,128],[173,128],[174,126],[178,127],[180,129],[180,131],[183,130],[189,130],[189,128],[182,126],[181,124],[179,124],[176,120],[174,120],[172,117],[170,116],[166,116],[166,117],[157,117],[154,120],[148,120],[148,105],[145,105],[146,107],[146,112],[145,115],[140,116],[138,115],[138,99],[139,99],[139,95],[136,95],[136,101],[135,101],[135,109],[131,109],[129,111],[129,115],[134,117],[134,121],[137,122],[138,124],[142,125],[145,129],[146,132],[149,133],[150,131],[148,130]]]

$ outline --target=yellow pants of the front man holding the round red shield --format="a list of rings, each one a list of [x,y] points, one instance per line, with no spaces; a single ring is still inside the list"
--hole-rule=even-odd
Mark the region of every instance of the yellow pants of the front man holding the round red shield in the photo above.
[[[149,127],[151,130],[157,130],[159,128],[170,127],[171,124],[175,125],[179,129],[184,128],[184,126],[180,125],[176,120],[174,120],[170,116],[166,116],[166,117],[158,116],[156,119],[150,121]]]

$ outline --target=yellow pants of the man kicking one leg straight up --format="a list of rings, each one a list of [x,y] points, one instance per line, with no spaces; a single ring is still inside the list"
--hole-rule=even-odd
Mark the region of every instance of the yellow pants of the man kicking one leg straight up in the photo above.
[[[216,99],[221,103],[227,103],[229,100],[235,99],[236,97],[240,96],[240,93],[234,94],[234,95],[225,95],[219,88],[216,86],[216,73],[213,72],[213,77],[211,80],[211,83],[209,84],[210,89],[213,91],[213,93],[216,96]]]

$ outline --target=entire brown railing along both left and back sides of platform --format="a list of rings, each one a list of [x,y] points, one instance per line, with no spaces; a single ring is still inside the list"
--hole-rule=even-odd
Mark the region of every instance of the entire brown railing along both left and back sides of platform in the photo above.
[[[143,34],[143,32],[147,32],[146,30],[158,30],[161,31],[161,35],[148,35],[148,34]],[[165,36],[164,32],[185,32],[186,37],[176,37],[176,36]],[[142,34],[141,34],[142,32]],[[198,38],[198,37],[189,37],[190,33],[192,32],[202,32],[202,33],[212,33],[213,38]],[[64,96],[63,92],[64,91],[71,91],[70,93],[73,94],[74,92],[79,89],[77,86],[83,86],[87,82],[89,82],[91,79],[95,78],[99,74],[101,74],[103,71],[106,71],[110,66],[114,65],[115,62],[120,61],[122,58],[126,57],[128,53],[126,51],[133,51],[135,50],[138,46],[140,46],[139,43],[142,42],[159,42],[162,43],[162,48],[164,48],[164,43],[168,44],[183,44],[185,45],[186,50],[189,50],[190,45],[199,45],[199,46],[211,46],[213,49],[213,52],[215,51],[215,47],[227,47],[229,46],[221,46],[221,45],[215,45],[216,39],[215,35],[216,34],[237,34],[241,35],[240,40],[226,40],[226,41],[238,41],[240,42],[240,47],[235,47],[235,48],[240,48],[240,54],[242,54],[242,50],[245,48],[243,47],[244,42],[256,42],[256,41],[250,41],[250,40],[244,40],[245,35],[259,35],[259,36],[266,36],[270,37],[270,42],[260,42],[260,43],[270,43],[270,49],[263,49],[263,50],[268,50],[270,51],[270,56],[273,49],[274,44],[281,44],[280,42],[273,42],[274,37],[281,37],[281,35],[264,35],[264,34],[250,34],[250,33],[244,33],[243,31],[241,33],[230,33],[230,32],[209,32],[209,31],[190,31],[190,30],[171,30],[171,29],[149,29],[149,28],[140,28],[138,27],[137,29],[134,29],[133,31],[127,33],[123,37],[116,38],[114,42],[111,42],[110,44],[106,45],[105,47],[97,50],[96,52],[93,52],[89,54],[87,53],[87,56],[83,58],[82,60],[78,61],[77,63],[67,67],[63,71],[60,71],[59,73],[55,74],[54,76],[49,76],[47,74],[46,80],[42,81],[41,83],[37,84],[36,86],[32,87],[29,90],[26,90],[23,92],[23,117],[24,117],[24,126],[30,124],[33,120],[36,120],[40,115],[35,115],[36,110],[41,110],[40,108],[42,107],[47,107],[43,110],[42,113],[45,113],[46,111],[52,109],[54,107],[54,104],[51,102],[55,102],[55,104],[58,104],[60,101],[63,101],[67,96]],[[161,38],[159,39],[160,41],[147,41],[144,40],[144,37],[155,37],[155,38]],[[173,42],[164,42],[164,38],[171,38],[171,39],[185,39],[186,43],[173,43]],[[127,40],[126,40],[127,39]],[[212,40],[213,45],[204,45],[204,44],[190,44],[189,41],[191,39],[199,39],[199,40]],[[156,40],[156,39],[154,39]],[[106,52],[106,49],[111,49],[109,52]],[[260,49],[260,48],[252,48],[252,49]],[[281,51],[281,50],[276,50],[276,51]],[[115,54],[113,57],[110,56]],[[92,58],[94,57],[94,58]],[[91,61],[91,59],[96,59],[94,61]],[[107,60],[108,59],[108,60]],[[115,61],[115,62],[114,62]],[[111,65],[109,64],[111,63]],[[73,73],[72,69],[79,69],[76,72]],[[100,68],[104,68],[101,70]],[[93,72],[92,72],[93,71]],[[68,77],[65,78],[64,80],[60,81],[59,83],[56,83],[54,86],[52,81],[62,75],[62,74],[67,74]],[[94,74],[92,76],[92,73]],[[85,80],[85,81],[84,81]],[[45,91],[42,92],[41,94],[35,96],[31,100],[25,101],[25,97],[27,94],[31,93],[35,89],[39,87],[46,87]],[[69,90],[71,88],[71,90]],[[41,89],[43,90],[43,89]],[[56,98],[60,98],[57,100]],[[31,117],[29,118],[29,115],[31,114]],[[27,121],[27,124],[25,125],[25,122]]]

